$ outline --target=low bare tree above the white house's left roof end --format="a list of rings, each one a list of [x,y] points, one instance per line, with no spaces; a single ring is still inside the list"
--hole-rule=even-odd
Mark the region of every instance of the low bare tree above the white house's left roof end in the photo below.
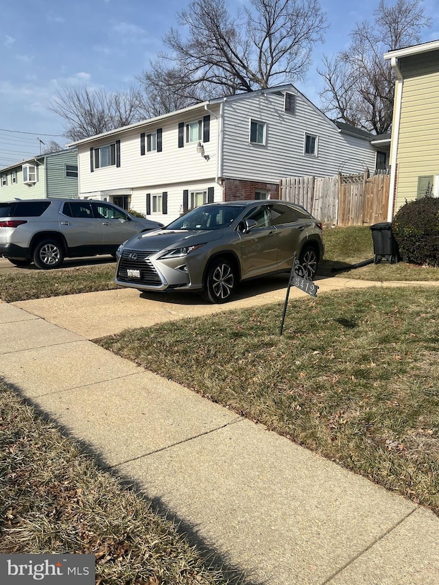
[[[71,141],[102,134],[144,117],[141,91],[93,90],[86,86],[66,86],[56,93],[49,109],[64,119],[65,136]]]

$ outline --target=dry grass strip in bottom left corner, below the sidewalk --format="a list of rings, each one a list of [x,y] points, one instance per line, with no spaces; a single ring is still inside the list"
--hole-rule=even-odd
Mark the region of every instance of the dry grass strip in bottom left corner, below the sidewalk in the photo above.
[[[0,553],[96,556],[96,582],[224,585],[176,527],[0,383]]]

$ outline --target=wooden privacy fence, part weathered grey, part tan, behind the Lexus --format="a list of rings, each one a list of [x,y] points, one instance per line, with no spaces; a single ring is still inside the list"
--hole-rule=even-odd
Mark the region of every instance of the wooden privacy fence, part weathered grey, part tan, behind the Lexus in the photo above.
[[[335,175],[281,179],[281,199],[298,203],[324,224],[372,226],[385,222],[390,176]]]

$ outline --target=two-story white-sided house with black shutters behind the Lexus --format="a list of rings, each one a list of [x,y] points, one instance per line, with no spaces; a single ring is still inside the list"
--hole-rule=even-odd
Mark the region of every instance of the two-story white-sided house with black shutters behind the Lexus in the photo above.
[[[205,202],[278,198],[281,177],[374,171],[371,139],[339,128],[288,84],[211,99],[71,146],[81,198],[167,224]]]

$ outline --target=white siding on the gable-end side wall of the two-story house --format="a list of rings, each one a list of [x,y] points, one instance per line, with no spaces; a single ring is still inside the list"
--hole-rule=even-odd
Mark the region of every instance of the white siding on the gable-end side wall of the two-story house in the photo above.
[[[316,106],[296,96],[295,115],[284,111],[285,95],[251,93],[224,104],[222,176],[276,183],[281,177],[333,176],[375,169],[375,149],[367,140],[342,134]],[[245,119],[266,124],[265,148],[248,141]],[[304,152],[304,136],[318,136],[318,157]]]

